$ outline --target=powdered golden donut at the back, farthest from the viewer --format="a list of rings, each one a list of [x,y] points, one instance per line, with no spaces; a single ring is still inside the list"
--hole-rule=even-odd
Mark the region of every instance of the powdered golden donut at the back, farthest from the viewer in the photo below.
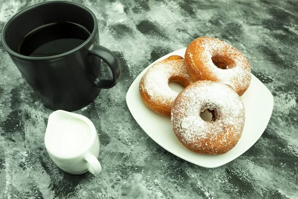
[[[221,82],[242,96],[250,85],[247,59],[236,48],[212,37],[199,37],[185,52],[185,65],[194,80]]]

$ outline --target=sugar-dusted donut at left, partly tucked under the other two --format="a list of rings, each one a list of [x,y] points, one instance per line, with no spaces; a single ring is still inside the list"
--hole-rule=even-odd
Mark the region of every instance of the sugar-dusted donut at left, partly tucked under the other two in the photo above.
[[[171,116],[172,103],[178,95],[169,88],[169,82],[178,82],[185,87],[194,82],[180,56],[173,55],[154,64],[144,74],[139,85],[145,104],[166,117]]]

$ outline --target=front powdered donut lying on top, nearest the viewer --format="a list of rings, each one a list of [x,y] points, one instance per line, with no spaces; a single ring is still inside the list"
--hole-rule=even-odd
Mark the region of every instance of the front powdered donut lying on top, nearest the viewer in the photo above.
[[[214,121],[204,121],[200,114],[214,112]],[[240,97],[228,86],[198,81],[176,98],[171,122],[178,140],[189,150],[217,155],[231,150],[240,139],[245,120]]]

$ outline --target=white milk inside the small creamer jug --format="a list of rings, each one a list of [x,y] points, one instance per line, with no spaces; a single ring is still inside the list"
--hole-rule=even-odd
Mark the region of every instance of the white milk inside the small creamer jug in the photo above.
[[[90,142],[90,128],[80,119],[57,117],[52,122],[49,145],[53,152],[69,156],[75,155],[88,148]]]

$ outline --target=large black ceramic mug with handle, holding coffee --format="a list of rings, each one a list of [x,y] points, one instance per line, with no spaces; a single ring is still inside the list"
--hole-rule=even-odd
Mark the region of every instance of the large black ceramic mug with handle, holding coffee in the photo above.
[[[19,53],[19,45],[30,31],[59,22],[83,26],[90,36],[74,49],[54,56],[30,57]],[[101,89],[114,87],[121,75],[117,57],[99,45],[94,13],[74,2],[48,1],[21,10],[4,25],[1,40],[35,94],[52,110],[74,111],[88,105]],[[101,78],[101,60],[110,67],[112,79]]]

